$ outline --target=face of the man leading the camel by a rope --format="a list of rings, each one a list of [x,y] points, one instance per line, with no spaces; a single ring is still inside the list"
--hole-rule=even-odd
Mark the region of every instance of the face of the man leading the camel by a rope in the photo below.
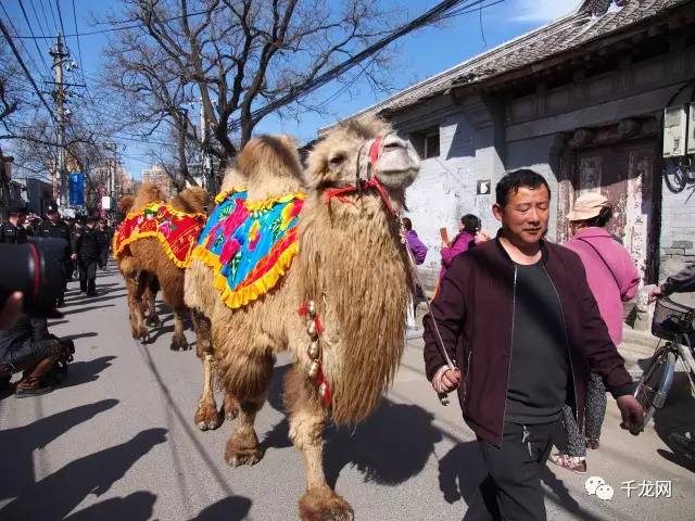
[[[495,218],[502,223],[505,236],[522,244],[538,243],[547,230],[551,194],[547,188],[519,187],[509,193],[507,204],[495,204],[492,208]]]

